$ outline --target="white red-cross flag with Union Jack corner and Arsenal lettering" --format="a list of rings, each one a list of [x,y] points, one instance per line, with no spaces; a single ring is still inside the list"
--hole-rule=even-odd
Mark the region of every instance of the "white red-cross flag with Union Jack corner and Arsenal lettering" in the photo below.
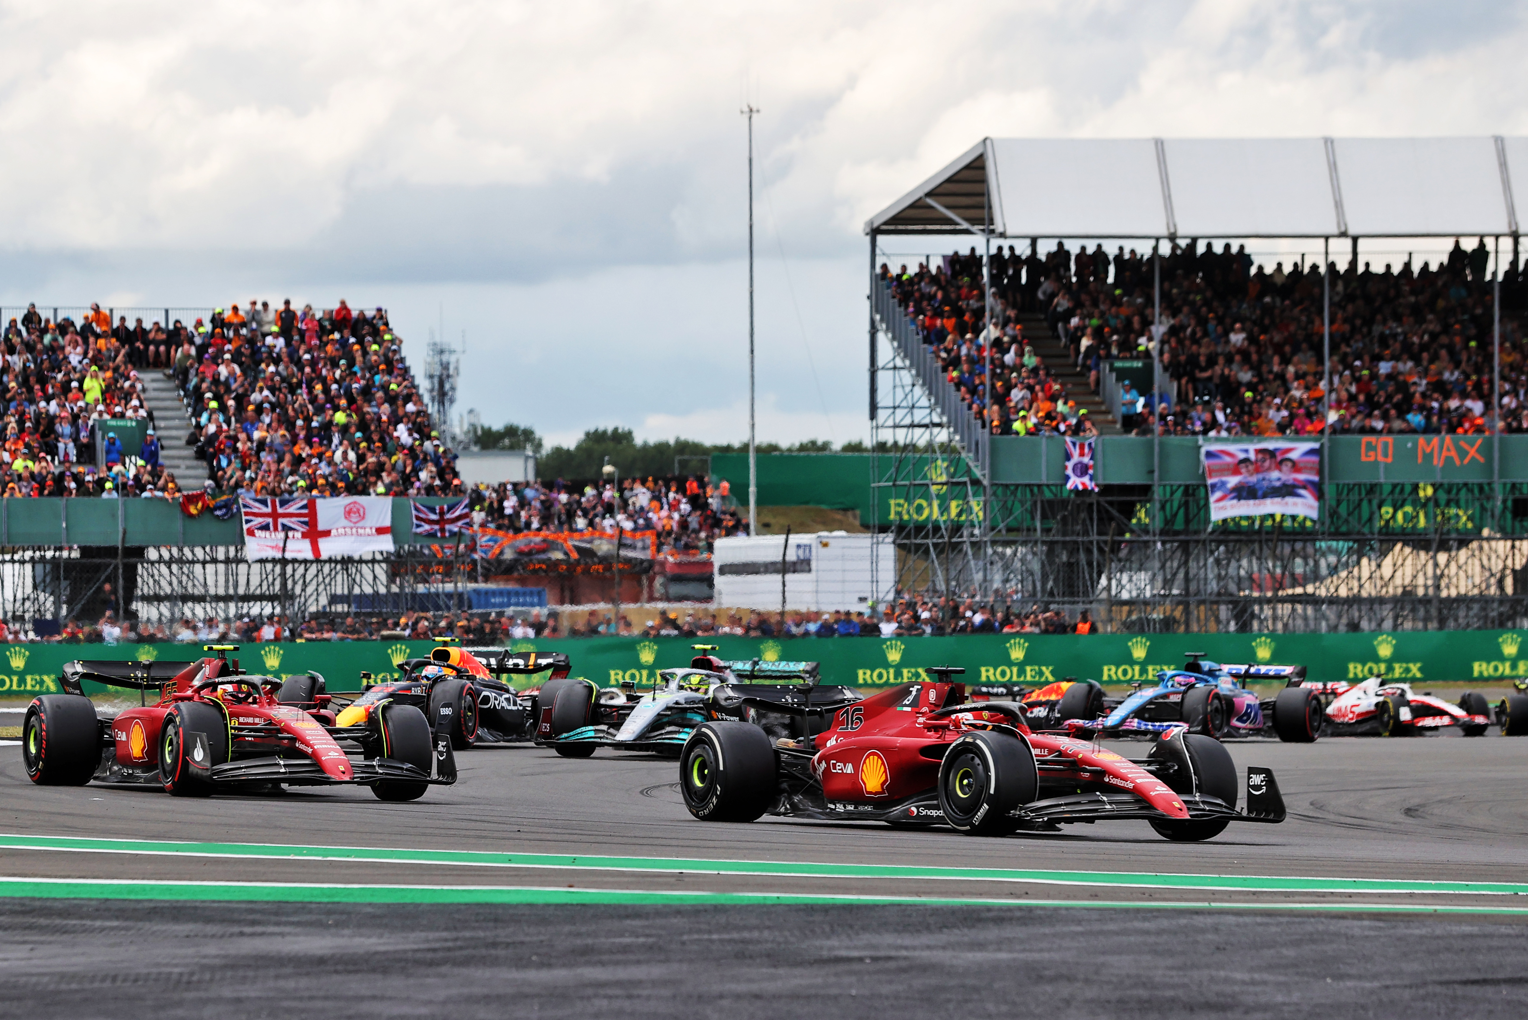
[[[244,496],[244,556],[257,559],[333,559],[393,551],[393,501],[388,496]]]

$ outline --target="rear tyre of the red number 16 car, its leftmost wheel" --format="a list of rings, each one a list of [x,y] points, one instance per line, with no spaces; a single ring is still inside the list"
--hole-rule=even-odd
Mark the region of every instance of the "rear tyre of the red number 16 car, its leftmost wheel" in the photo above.
[[[701,821],[753,821],[778,786],[775,748],[750,722],[703,722],[680,751],[678,788]]]

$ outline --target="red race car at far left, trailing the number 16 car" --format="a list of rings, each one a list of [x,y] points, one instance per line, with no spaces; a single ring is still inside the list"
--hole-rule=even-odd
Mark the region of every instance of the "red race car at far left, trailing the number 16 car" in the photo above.
[[[194,663],[66,663],[67,693],[32,701],[21,757],[34,783],[90,780],[163,786],[177,797],[217,789],[364,785],[382,800],[416,800],[457,780],[449,705],[431,728],[414,705],[391,704],[364,725],[339,727],[312,675],[248,676],[226,652]],[[139,692],[139,705],[98,713],[83,681]],[[159,699],[147,704],[154,690]]]

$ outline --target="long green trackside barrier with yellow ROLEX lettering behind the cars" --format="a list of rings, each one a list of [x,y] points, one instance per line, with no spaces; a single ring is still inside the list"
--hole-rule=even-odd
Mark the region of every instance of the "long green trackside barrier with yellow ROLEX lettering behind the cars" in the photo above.
[[[562,638],[515,641],[516,650],[565,652],[573,675],[601,686],[642,686],[657,670],[688,666],[688,638]],[[1221,663],[1308,667],[1311,679],[1358,681],[1374,673],[1413,684],[1468,681],[1500,687],[1528,676],[1528,631],[1397,631],[1384,634],[984,634],[902,638],[706,638],[721,658],[814,660],[822,681],[886,687],[923,678],[926,666],[964,666],[967,683],[1044,684],[1065,676],[1105,684],[1149,681],[1183,666],[1186,652]],[[358,690],[359,672],[397,675],[397,663],[425,657],[432,641],[321,641],[246,644],[234,657],[251,673],[289,676],[309,669],[330,690]],[[0,647],[0,696],[58,690],[60,667],[73,658],[191,660],[199,644],[11,644]],[[542,678],[524,679],[524,686]],[[121,692],[119,692],[121,693]]]

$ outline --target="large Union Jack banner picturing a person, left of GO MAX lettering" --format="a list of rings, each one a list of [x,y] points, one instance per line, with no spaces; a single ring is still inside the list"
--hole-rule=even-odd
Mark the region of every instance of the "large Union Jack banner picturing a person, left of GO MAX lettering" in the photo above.
[[[1203,447],[1203,455],[1210,521],[1320,516],[1320,443],[1216,443]]]

